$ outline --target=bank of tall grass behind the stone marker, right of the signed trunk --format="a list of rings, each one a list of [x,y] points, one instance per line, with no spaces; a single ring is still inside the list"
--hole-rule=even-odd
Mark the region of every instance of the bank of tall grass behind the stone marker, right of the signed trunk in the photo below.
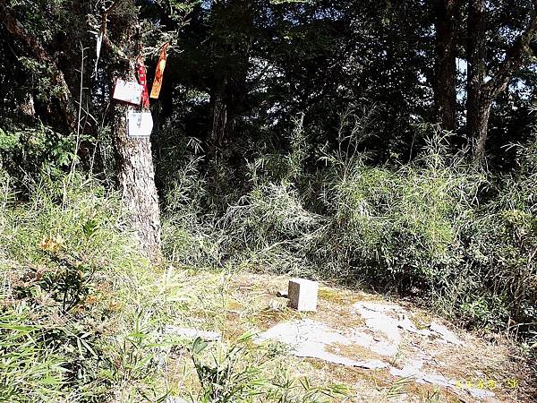
[[[168,255],[395,290],[471,326],[533,329],[535,143],[520,147],[510,176],[476,170],[438,129],[412,161],[370,165],[359,150],[375,116],[362,115],[342,116],[339,147],[318,150],[315,172],[297,120],[288,152],[251,160],[251,187],[219,216],[183,197],[201,178],[189,170],[175,200],[194,208],[180,225],[169,211],[166,239],[194,246]]]

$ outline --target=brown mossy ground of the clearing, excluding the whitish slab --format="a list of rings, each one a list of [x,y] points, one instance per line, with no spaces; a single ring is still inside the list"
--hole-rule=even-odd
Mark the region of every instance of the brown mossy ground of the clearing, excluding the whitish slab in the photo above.
[[[316,313],[298,313],[286,307],[286,300],[278,292],[286,293],[289,278],[260,274],[192,273],[185,287],[194,298],[189,305],[189,317],[184,324],[202,330],[217,330],[223,339],[232,342],[243,332],[262,332],[277,323],[310,319],[334,330],[348,330],[364,326],[363,318],[353,312],[353,304],[360,301],[388,303],[381,296],[359,291],[320,287],[319,307]],[[396,300],[389,304],[397,304]],[[456,380],[460,388],[445,388],[430,383],[417,383],[413,379],[394,376],[388,368],[361,369],[332,364],[315,358],[286,357],[286,364],[311,383],[345,383],[352,390],[345,401],[354,402],[531,402],[537,396],[530,379],[530,370],[516,357],[516,351],[507,340],[497,338],[491,343],[473,334],[433,317],[431,313],[401,302],[418,330],[426,329],[431,320],[453,330],[464,343],[462,346],[442,342],[438,338],[422,337],[401,331],[402,339],[394,356],[380,356],[367,347],[334,345],[329,352],[349,356],[356,360],[382,358],[389,365],[401,368],[416,356],[423,357],[422,371],[436,373]],[[379,339],[382,336],[379,335]],[[176,370],[193,377],[187,357],[178,358]],[[184,361],[184,362],[183,362]],[[183,363],[183,364],[181,364]],[[190,368],[190,369],[189,369]],[[175,379],[181,376],[175,376]],[[182,378],[183,379],[183,378]],[[187,389],[195,388],[195,381]],[[186,385],[184,385],[186,386]],[[494,397],[478,399],[468,388],[490,390]],[[341,399],[337,399],[341,401]]]

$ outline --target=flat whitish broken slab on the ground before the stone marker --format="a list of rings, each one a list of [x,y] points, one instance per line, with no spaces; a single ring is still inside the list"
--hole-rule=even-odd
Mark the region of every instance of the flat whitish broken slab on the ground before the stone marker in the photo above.
[[[292,280],[293,281],[293,280]],[[308,281],[308,280],[305,280]],[[303,287],[303,282],[289,283],[289,296],[296,295]],[[308,283],[305,283],[308,287]],[[298,298],[300,299],[300,298]],[[403,341],[404,336],[413,334],[413,338],[438,340],[441,343],[463,345],[456,334],[447,330],[437,322],[430,322],[428,329],[417,329],[408,318],[404,307],[372,301],[361,301],[349,307],[351,313],[359,315],[364,324],[348,329],[333,329],[327,324],[311,319],[292,320],[277,323],[276,326],[261,333],[254,341],[261,343],[267,340],[279,341],[290,348],[291,354],[300,357],[317,358],[329,363],[354,366],[365,369],[387,368],[389,373],[398,377],[413,378],[414,382],[430,383],[441,388],[456,390],[456,379],[422,368],[431,356],[409,356],[402,367],[393,364],[394,357]],[[360,359],[360,356],[342,353],[339,347],[362,347],[364,353],[369,350],[379,356],[376,359]],[[355,351],[361,351],[360,348]],[[335,354],[337,353],[337,354]],[[360,353],[359,353],[360,354]],[[465,388],[476,399],[494,397],[490,390]]]

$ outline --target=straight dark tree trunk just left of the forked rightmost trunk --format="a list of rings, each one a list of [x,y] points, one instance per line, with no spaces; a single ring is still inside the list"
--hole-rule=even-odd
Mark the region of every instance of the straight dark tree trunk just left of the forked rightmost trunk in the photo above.
[[[434,101],[440,127],[456,129],[456,23],[459,0],[437,0]]]

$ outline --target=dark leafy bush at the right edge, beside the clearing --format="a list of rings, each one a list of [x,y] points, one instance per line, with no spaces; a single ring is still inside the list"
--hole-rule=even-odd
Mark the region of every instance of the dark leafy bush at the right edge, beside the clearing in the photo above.
[[[520,148],[520,170],[469,226],[467,260],[482,295],[501,300],[495,322],[537,320],[537,141]],[[488,304],[493,306],[493,304]],[[489,321],[490,322],[490,321]]]

